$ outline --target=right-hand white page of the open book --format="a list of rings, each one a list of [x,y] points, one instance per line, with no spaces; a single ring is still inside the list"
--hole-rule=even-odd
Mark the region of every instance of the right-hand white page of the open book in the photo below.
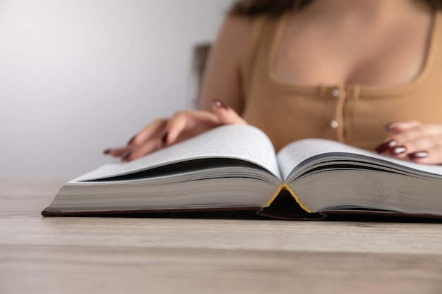
[[[402,166],[404,169],[413,169],[422,173],[434,173],[437,175],[442,175],[442,166],[416,164],[411,161],[387,157],[375,152],[359,149],[357,147],[352,147],[332,140],[305,139],[292,142],[278,152],[277,161],[280,164],[282,178],[286,180],[292,170],[305,159],[328,153],[359,154],[365,157],[371,157],[376,162],[384,161],[387,165],[390,163],[395,166]]]

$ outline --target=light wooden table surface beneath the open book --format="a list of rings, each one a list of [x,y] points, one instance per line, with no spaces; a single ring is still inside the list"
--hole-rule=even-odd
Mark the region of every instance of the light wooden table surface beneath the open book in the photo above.
[[[442,293],[442,224],[45,218],[0,178],[0,293]],[[441,196],[442,197],[442,196]]]

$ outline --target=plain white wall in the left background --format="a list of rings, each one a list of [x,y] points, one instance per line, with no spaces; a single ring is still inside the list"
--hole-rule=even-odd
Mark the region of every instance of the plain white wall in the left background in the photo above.
[[[0,0],[0,175],[78,176],[189,106],[232,0]]]

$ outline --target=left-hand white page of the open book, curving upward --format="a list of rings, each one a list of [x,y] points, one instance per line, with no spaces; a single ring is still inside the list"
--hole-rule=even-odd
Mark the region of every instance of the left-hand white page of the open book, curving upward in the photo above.
[[[130,162],[115,162],[86,173],[71,182],[95,180],[145,171],[158,166],[207,158],[250,161],[280,178],[275,149],[268,137],[251,125],[222,125],[176,145]]]

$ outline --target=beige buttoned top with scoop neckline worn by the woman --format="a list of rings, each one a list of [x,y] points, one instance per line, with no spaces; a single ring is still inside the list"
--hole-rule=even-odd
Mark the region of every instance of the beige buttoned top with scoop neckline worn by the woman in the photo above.
[[[279,150],[307,137],[374,149],[393,121],[442,124],[442,13],[434,17],[431,42],[419,76],[405,85],[296,85],[275,74],[288,16],[256,18],[242,64],[243,116]]]

